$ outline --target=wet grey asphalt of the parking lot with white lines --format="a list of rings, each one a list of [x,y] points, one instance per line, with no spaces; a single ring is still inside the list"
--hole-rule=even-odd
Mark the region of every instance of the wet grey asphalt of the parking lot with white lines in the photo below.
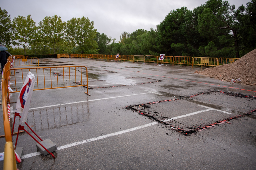
[[[64,64],[87,67],[91,96],[85,87],[34,91],[27,123],[59,148],[55,159],[34,156],[36,142],[21,133],[17,147],[24,148],[24,157],[18,169],[255,169],[255,86],[195,74],[199,67],[40,60],[42,67]],[[56,85],[57,72],[59,84],[69,84],[69,70],[45,70],[46,87],[51,78]],[[71,70],[71,85],[74,74],[85,83],[86,70]],[[44,86],[42,75],[38,71],[38,87]],[[15,76],[22,82],[20,74]],[[22,83],[10,86],[19,89]],[[10,96],[11,110],[17,97]],[[4,135],[3,124],[0,129]],[[0,152],[4,143],[0,138]]]

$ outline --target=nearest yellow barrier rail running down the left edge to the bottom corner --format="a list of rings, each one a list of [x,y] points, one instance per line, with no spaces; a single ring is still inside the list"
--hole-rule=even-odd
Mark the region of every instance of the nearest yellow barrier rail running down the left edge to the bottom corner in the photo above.
[[[2,108],[3,108],[3,120],[4,120],[4,135],[5,135],[5,145],[4,145],[4,170],[16,170],[16,159],[14,154],[14,147],[12,143],[12,133],[11,133],[11,126],[8,116],[8,109],[7,109],[7,87],[8,84],[4,79],[5,77],[5,68],[3,69],[3,75],[2,75]]]

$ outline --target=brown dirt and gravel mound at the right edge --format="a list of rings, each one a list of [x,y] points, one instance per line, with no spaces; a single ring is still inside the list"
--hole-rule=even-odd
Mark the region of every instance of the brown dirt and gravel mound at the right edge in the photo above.
[[[206,68],[204,71],[195,73],[210,76],[222,81],[235,79],[236,83],[245,85],[256,85],[256,49],[245,54],[240,59],[231,64],[224,64],[217,67]],[[236,80],[239,79],[239,80]],[[233,80],[234,81],[234,80]]]

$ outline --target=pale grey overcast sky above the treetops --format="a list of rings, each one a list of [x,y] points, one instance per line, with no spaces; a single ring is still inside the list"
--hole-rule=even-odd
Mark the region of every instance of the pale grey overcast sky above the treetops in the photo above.
[[[5,9],[15,17],[31,14],[36,25],[46,16],[60,16],[63,21],[88,17],[94,28],[108,37],[116,38],[122,32],[137,29],[156,29],[172,10],[187,7],[189,10],[204,4],[205,0],[0,0]],[[236,8],[250,0],[228,0]]]

